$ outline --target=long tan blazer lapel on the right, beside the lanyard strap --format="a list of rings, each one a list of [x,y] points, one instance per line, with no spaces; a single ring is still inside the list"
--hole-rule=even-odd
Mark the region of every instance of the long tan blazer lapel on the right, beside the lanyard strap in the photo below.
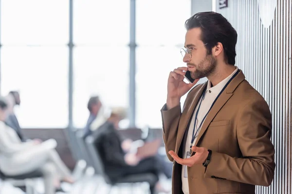
[[[242,71],[238,73],[238,75],[229,83],[229,85],[225,88],[225,90],[222,92],[222,94],[219,96],[218,100],[215,102],[213,108],[208,113],[197,138],[197,141],[195,143],[195,146],[197,146],[200,143],[200,140],[202,138],[202,135],[204,132],[208,129],[210,123],[216,116],[216,114],[220,111],[220,109],[224,106],[224,104],[229,100],[230,97],[232,97],[233,92],[241,83],[245,80],[245,76],[243,75]]]

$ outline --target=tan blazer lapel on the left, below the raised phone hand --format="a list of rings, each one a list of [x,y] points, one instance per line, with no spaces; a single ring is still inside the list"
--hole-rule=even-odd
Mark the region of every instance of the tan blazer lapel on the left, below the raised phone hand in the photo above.
[[[178,132],[176,146],[175,146],[175,153],[178,153],[178,151],[179,151],[179,148],[182,144],[185,129],[188,127],[188,125],[191,121],[191,116],[193,115],[195,107],[196,107],[196,105],[201,97],[201,94],[203,93],[203,91],[207,87],[207,84],[208,84],[208,82],[201,84],[201,86],[199,86],[201,88],[199,89],[199,92],[197,94],[196,93],[190,94],[190,95],[194,95],[193,99],[190,99],[190,103],[186,103],[184,105],[183,113],[181,115],[181,119],[180,119],[180,123],[179,123],[179,132]]]

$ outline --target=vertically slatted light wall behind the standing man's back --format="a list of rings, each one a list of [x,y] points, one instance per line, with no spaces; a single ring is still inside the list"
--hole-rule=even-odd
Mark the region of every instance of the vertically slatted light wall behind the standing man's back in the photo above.
[[[273,22],[264,28],[257,0],[229,0],[217,12],[237,30],[236,65],[266,99],[273,116],[275,176],[257,194],[292,194],[292,0],[276,0]]]

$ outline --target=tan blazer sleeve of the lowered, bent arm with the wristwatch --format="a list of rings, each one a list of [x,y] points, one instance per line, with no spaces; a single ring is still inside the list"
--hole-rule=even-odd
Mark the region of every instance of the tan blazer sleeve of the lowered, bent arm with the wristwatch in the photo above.
[[[238,114],[237,139],[242,158],[212,152],[205,178],[269,186],[274,178],[274,146],[270,140],[272,115],[262,98],[247,103]]]

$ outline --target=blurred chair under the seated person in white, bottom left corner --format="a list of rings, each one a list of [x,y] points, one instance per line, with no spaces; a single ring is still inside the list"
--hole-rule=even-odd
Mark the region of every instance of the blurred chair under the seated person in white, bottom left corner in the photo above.
[[[6,176],[0,171],[0,179],[4,182],[10,182],[16,187],[25,187],[26,194],[34,194],[34,179],[41,178],[43,175],[39,171],[27,173],[19,176]]]

